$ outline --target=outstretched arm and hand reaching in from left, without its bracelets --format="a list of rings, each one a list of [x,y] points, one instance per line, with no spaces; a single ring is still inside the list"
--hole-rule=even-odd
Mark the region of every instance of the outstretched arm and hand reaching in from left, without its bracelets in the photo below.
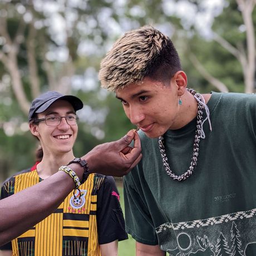
[[[134,140],[134,146],[130,147]],[[96,146],[85,156],[92,172],[104,175],[123,176],[129,173],[141,159],[139,135],[129,131],[120,140]],[[82,179],[83,168],[71,164]],[[6,244],[45,219],[75,188],[70,176],[62,171],[35,186],[0,200],[0,245]]]

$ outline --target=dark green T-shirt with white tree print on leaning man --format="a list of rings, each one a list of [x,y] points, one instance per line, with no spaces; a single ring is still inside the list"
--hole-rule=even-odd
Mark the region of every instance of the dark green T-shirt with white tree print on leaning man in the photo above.
[[[166,174],[158,139],[139,132],[143,157],[124,178],[126,231],[170,255],[256,255],[256,95],[213,92],[207,105],[212,131],[206,121],[185,181]],[[164,135],[175,174],[190,166],[195,126]]]

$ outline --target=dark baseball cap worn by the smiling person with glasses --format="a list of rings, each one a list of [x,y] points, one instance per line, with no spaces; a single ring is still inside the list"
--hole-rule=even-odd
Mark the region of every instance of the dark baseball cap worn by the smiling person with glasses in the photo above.
[[[66,100],[70,102],[75,111],[80,110],[83,107],[83,102],[76,96],[63,95],[56,91],[47,91],[32,101],[28,112],[28,121],[30,122],[33,119],[35,113],[42,113],[47,110],[56,100]]]

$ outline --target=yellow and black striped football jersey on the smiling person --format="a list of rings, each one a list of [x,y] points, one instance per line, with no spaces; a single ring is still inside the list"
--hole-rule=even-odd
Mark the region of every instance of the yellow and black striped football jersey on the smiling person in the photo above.
[[[36,168],[24,170],[3,184],[1,199],[41,180]],[[70,193],[54,213],[0,249],[19,256],[98,256],[99,244],[127,239],[114,179],[91,174],[80,191]]]

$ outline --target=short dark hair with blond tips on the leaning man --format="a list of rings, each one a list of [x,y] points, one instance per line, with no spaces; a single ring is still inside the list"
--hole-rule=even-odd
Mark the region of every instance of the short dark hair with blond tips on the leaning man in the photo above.
[[[126,32],[101,61],[101,86],[110,91],[145,77],[168,81],[181,70],[180,58],[168,36],[152,26]]]

